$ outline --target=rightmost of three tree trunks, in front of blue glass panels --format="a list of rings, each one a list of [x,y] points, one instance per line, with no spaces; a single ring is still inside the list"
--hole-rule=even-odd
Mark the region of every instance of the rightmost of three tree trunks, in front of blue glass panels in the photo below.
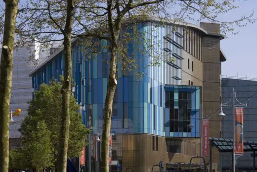
[[[116,41],[115,41],[116,42]],[[110,58],[110,74],[108,78],[107,94],[104,104],[103,133],[101,143],[101,172],[109,172],[109,137],[112,120],[113,98],[117,86],[116,66],[117,66],[117,43],[112,45]]]

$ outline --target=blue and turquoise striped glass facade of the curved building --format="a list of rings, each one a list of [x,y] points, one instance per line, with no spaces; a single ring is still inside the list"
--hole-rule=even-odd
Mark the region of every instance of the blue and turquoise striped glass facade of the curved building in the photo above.
[[[176,28],[174,31],[174,27]],[[133,74],[123,75],[122,65],[118,64],[118,86],[113,103],[113,118],[111,132],[119,133],[148,133],[167,137],[200,137],[200,103],[201,91],[199,87],[181,86],[181,66],[183,49],[183,28],[170,24],[160,25],[155,22],[145,22],[137,25],[137,29],[145,34],[145,39],[151,40],[155,48],[149,54],[141,54],[141,46],[130,45],[128,53],[135,54],[138,71],[144,73],[139,78]],[[85,51],[77,45],[72,53],[72,78],[76,83],[73,88],[74,96],[78,104],[83,106],[83,119],[93,134],[101,132],[103,108],[107,91],[107,77],[109,65],[105,62],[110,53],[104,46],[106,41],[101,41],[98,47],[100,54],[88,58],[90,51]],[[148,66],[152,56],[163,56],[160,65]],[[174,57],[175,61],[165,58]],[[142,62],[143,61],[143,62]],[[50,80],[59,80],[59,75],[64,74],[64,54],[60,52],[51,58],[41,68],[33,73],[33,87],[39,89],[41,83],[49,83]],[[180,85],[180,86],[179,86]],[[173,92],[173,107],[166,106],[166,95]],[[190,114],[186,117],[171,118],[173,112],[182,109],[179,94],[187,94],[186,105]],[[183,95],[183,94],[182,94]],[[170,99],[169,99],[170,101]],[[183,110],[181,110],[183,112]],[[192,116],[194,127],[191,130],[185,128],[188,115]],[[183,114],[182,114],[183,116]],[[178,124],[178,129],[171,129],[171,121]],[[177,123],[177,124],[175,124]],[[181,126],[180,126],[181,125]],[[179,129],[180,128],[180,129]]]

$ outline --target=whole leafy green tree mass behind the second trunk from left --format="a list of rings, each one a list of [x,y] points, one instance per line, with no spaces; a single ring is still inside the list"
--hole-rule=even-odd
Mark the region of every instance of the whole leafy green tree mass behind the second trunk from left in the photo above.
[[[42,84],[30,102],[28,116],[22,122],[23,147],[13,152],[12,167],[43,169],[58,166],[59,140],[61,133],[61,102],[62,83],[52,82]],[[78,114],[79,106],[74,97],[70,98],[69,148],[70,158],[79,157],[86,145],[86,136],[90,132],[82,123],[82,116]],[[20,158],[22,157],[22,158]],[[27,163],[24,163],[26,159]]]

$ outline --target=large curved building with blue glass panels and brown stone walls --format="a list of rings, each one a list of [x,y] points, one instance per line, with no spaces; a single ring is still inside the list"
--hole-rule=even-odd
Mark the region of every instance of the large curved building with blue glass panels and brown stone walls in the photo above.
[[[167,169],[189,163],[192,156],[200,155],[200,119],[205,115],[214,116],[210,120],[210,136],[219,137],[221,133],[221,121],[215,115],[221,100],[221,62],[226,59],[220,50],[219,42],[224,37],[219,34],[219,25],[164,24],[158,18],[148,17],[137,24],[137,31],[146,33],[142,34],[146,40],[159,45],[149,54],[140,51],[146,44],[132,44],[129,48],[128,53],[139,61],[137,72],[144,73],[139,79],[133,72],[123,75],[119,70],[122,66],[118,65],[111,125],[112,172],[117,171],[117,164],[124,172],[129,168],[134,172],[151,172],[160,161]],[[110,57],[106,44],[101,41],[97,57],[88,59],[80,45],[74,47],[72,54],[72,78],[76,82],[73,94],[81,105],[84,123],[92,130],[91,149],[87,151],[92,172],[99,171],[100,143],[96,138],[102,131],[109,73],[104,62]],[[156,52],[175,60],[145,67],[150,63],[150,55]],[[38,90],[42,83],[59,80],[64,69],[61,50],[30,73],[33,88]],[[192,128],[187,126],[190,121]],[[213,152],[213,167],[217,169],[220,157],[217,150]]]

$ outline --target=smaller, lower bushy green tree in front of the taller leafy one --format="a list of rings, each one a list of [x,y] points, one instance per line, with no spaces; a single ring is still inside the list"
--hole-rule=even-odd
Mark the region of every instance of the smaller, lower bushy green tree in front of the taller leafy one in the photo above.
[[[53,148],[44,120],[36,124],[36,128],[30,134],[30,142],[25,142],[23,148],[18,148],[11,153],[12,168],[32,168],[42,170],[53,166]]]

